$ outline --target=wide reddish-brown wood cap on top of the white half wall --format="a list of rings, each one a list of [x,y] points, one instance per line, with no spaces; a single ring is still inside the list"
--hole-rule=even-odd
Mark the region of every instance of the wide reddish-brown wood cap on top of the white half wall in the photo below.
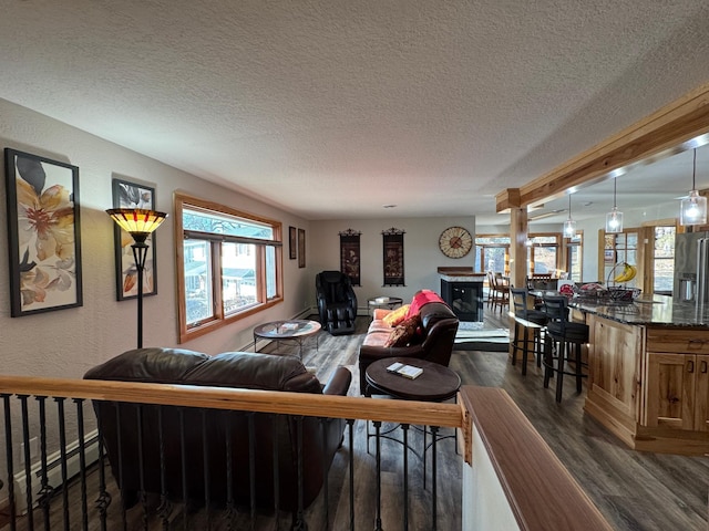
[[[610,531],[504,389],[466,385],[459,399],[481,436],[520,529]]]

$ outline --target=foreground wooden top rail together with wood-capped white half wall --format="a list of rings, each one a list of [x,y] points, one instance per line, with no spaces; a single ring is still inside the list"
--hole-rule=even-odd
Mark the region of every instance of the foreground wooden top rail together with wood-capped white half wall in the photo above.
[[[7,397],[11,395],[331,417],[348,419],[350,423],[352,419],[363,419],[455,428],[459,430],[459,448],[465,461],[462,465],[462,506],[465,511],[462,516],[462,529],[469,529],[467,525],[472,525],[472,522],[479,525],[476,529],[494,529],[486,527],[489,522],[485,521],[485,506],[490,503],[506,507],[511,522],[516,524],[517,529],[610,529],[522,412],[504,391],[497,388],[463,386],[458,404],[435,404],[224,387],[0,376],[0,396],[6,403],[6,428],[7,416],[10,413]],[[10,414],[16,415],[17,412]],[[21,426],[21,423],[19,425]],[[350,424],[350,437],[351,426]],[[27,434],[24,438],[27,439]],[[477,458],[473,459],[474,455]],[[492,476],[484,479],[481,470],[486,461],[491,464]],[[472,470],[477,472],[473,473]],[[497,486],[497,490],[492,483]],[[494,494],[497,491],[499,494]],[[481,499],[481,492],[487,498]],[[491,501],[490,496],[495,496],[495,499]],[[350,529],[354,529],[353,524]],[[410,529],[435,529],[435,522]]]

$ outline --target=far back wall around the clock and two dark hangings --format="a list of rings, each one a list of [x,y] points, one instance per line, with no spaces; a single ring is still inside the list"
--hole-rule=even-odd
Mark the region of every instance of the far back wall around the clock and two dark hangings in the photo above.
[[[367,312],[367,299],[376,295],[401,296],[404,302],[421,289],[441,291],[439,267],[474,267],[475,256],[452,259],[439,249],[441,232],[451,226],[460,226],[475,233],[475,218],[438,217],[401,219],[342,219],[312,222],[308,235],[310,263],[314,273],[340,269],[340,232],[348,229],[360,231],[361,287],[354,287],[360,313]],[[404,230],[404,280],[403,287],[383,287],[382,231],[397,228]],[[311,302],[315,304],[315,283]]]

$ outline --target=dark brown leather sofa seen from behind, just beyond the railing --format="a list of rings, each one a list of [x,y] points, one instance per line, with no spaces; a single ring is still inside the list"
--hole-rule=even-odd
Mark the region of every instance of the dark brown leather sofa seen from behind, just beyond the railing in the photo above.
[[[185,350],[138,348],[92,368],[84,378],[347,395],[351,373],[338,367],[329,383],[322,386],[292,356],[246,352],[208,356]],[[148,493],[160,493],[162,489],[158,407],[142,407],[142,436],[138,438],[135,405],[121,404],[116,407],[115,403],[94,402],[111,469],[126,508],[137,501],[141,481]],[[167,497],[173,501],[185,500],[192,508],[204,506],[205,496],[209,498],[209,504],[222,506],[233,501],[237,507],[250,507],[249,492],[255,489],[257,508],[273,510],[277,490],[279,509],[294,512],[300,509],[299,430],[302,435],[302,509],[307,508],[322,488],[346,425],[341,419],[304,417],[299,420],[286,415],[175,406],[162,408]],[[250,421],[253,438],[249,441]],[[138,454],[140,440],[142,456]],[[249,459],[251,456],[253,461]],[[278,462],[276,469],[275,459]],[[232,466],[227,470],[229,461]],[[142,473],[140,462],[143,462]],[[254,481],[250,480],[250,466],[255,467]],[[208,491],[205,491],[205,486],[208,486]]]

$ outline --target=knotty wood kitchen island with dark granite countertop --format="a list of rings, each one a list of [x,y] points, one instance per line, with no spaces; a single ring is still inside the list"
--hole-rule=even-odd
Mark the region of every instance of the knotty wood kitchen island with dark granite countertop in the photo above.
[[[589,326],[584,409],[630,448],[709,452],[709,309],[574,300]]]

